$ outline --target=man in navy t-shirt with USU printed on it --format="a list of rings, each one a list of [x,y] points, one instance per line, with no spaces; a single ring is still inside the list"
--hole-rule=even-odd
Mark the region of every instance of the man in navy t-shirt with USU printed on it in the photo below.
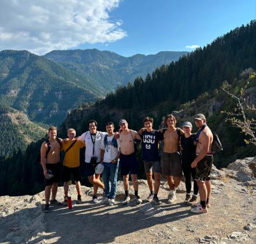
[[[161,164],[159,162],[158,142],[162,140],[163,136],[161,132],[153,129],[153,119],[151,117],[145,117],[143,124],[146,130],[140,130],[140,136],[142,141],[142,159],[144,161],[145,172],[147,174],[148,187],[150,190],[147,199],[153,200],[155,204],[160,205],[157,197],[157,193],[160,187],[161,176]],[[155,185],[153,191],[153,179],[152,170],[154,172]]]

